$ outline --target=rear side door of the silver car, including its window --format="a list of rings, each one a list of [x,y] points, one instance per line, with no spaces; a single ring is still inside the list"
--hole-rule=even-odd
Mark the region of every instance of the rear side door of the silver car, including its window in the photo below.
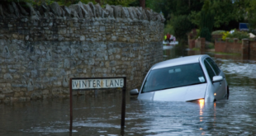
[[[225,96],[225,87],[226,87],[226,82],[225,82],[225,74],[221,72],[220,68],[217,66],[217,64],[211,59],[211,58],[206,58],[206,61],[210,64],[211,68],[213,71],[216,73],[217,76],[222,76],[223,80],[220,83],[220,88],[216,92],[220,98],[223,98]],[[219,98],[219,99],[220,99]]]

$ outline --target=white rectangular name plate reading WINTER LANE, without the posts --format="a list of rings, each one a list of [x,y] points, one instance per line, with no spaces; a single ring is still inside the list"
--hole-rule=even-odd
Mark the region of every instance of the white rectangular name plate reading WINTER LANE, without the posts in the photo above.
[[[124,87],[124,78],[73,79],[72,89],[94,89]]]

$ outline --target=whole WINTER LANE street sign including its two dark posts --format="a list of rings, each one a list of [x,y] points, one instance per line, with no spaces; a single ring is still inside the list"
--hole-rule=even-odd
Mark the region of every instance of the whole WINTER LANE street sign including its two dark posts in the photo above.
[[[72,134],[73,101],[72,91],[86,91],[93,89],[122,88],[121,129],[125,126],[126,118],[126,77],[74,77],[69,78],[70,124],[69,134]]]

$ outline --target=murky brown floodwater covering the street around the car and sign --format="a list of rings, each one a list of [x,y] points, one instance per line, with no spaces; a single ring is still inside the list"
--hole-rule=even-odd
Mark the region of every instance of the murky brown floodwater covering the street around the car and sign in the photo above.
[[[256,135],[256,61],[178,46],[164,49],[165,59],[192,54],[216,60],[229,83],[230,100],[138,101],[127,95],[121,129],[121,91],[73,96],[72,135]],[[0,135],[69,135],[69,99],[0,104]]]

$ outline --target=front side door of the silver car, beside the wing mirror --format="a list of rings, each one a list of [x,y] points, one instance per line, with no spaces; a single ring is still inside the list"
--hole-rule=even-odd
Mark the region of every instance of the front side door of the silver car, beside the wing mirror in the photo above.
[[[211,68],[211,65],[206,61],[206,59],[204,60],[204,65],[206,67],[206,71],[208,76],[210,77],[210,81],[209,81],[209,86],[208,88],[210,88],[208,93],[218,93],[220,91],[220,82],[212,82],[212,77],[216,76],[216,73],[213,71],[213,69]],[[219,95],[214,96],[215,99],[219,99]]]

